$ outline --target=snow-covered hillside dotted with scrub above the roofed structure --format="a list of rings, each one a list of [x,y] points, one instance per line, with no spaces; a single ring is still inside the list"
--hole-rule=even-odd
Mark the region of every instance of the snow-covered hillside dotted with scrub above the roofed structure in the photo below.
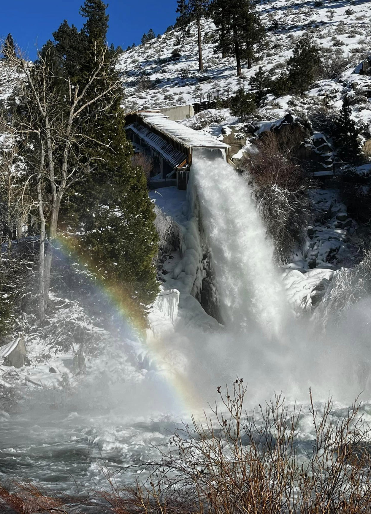
[[[198,71],[196,27],[190,35],[179,30],[123,53],[119,68],[126,93],[125,109],[158,108],[194,103],[215,90],[229,89],[229,94],[244,85],[259,66],[274,78],[285,69],[296,38],[308,31],[323,48],[323,56],[337,52],[345,60],[345,69],[337,78],[319,80],[305,99],[286,96],[270,98],[263,109],[267,119],[279,119],[287,111],[300,112],[310,106],[340,108],[345,93],[354,103],[354,118],[369,132],[371,121],[371,77],[359,75],[359,64],[367,58],[371,43],[371,2],[323,0],[295,2],[274,0],[257,6],[267,28],[267,48],[251,69],[243,66],[244,77],[237,78],[235,60],[221,59],[215,52],[217,33],[211,21],[203,24],[203,60],[205,71]],[[180,58],[172,57],[176,50]]]

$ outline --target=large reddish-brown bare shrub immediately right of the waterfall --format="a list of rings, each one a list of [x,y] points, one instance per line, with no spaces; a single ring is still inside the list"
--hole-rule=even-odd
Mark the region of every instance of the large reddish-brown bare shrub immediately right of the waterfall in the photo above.
[[[246,154],[241,163],[280,263],[285,263],[294,247],[303,243],[309,217],[309,182],[291,159],[300,140],[290,138],[290,133],[281,131],[278,137],[268,132],[257,142],[257,152]]]

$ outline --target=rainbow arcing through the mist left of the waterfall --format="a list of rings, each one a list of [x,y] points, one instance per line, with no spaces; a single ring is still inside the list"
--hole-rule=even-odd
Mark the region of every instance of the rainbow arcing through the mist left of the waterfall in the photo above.
[[[187,376],[177,370],[170,369],[166,362],[166,347],[163,341],[153,339],[149,342],[146,332],[147,320],[142,311],[138,308],[133,299],[128,295],[124,284],[121,286],[111,283],[109,280],[102,280],[96,273],[96,266],[91,259],[79,252],[79,245],[76,238],[72,236],[59,235],[57,245],[54,249],[68,255],[85,271],[87,270],[94,277],[95,287],[102,295],[102,300],[108,302],[116,317],[127,327],[129,337],[138,342],[143,353],[149,353],[158,369],[164,369],[163,378],[168,392],[175,399],[178,409],[181,412],[192,413],[200,408],[200,398],[196,393],[193,384]]]

